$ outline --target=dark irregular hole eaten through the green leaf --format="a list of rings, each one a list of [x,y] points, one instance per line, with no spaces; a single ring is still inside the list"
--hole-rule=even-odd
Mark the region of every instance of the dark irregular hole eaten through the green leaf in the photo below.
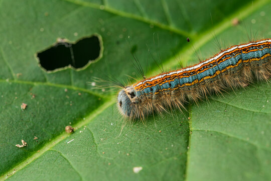
[[[101,56],[101,38],[91,36],[75,43],[59,39],[52,47],[37,54],[40,65],[47,71],[71,66],[86,67]]]

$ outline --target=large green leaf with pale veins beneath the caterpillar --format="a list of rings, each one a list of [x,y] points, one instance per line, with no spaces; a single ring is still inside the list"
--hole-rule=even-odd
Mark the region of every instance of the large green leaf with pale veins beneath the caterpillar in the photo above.
[[[88,83],[139,77],[131,51],[151,76],[159,68],[148,49],[169,70],[197,62],[194,50],[201,59],[219,52],[217,41],[247,42],[250,26],[269,38],[270,9],[267,0],[0,0],[0,180],[270,180],[269,84],[130,123],[114,91]],[[92,35],[103,51],[89,66],[40,67],[36,54],[58,38]],[[22,139],[27,146],[16,147]]]

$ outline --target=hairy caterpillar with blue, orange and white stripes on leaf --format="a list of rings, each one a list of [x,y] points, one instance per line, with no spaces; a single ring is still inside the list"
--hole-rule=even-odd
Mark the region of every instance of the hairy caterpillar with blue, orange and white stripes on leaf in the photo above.
[[[130,119],[144,119],[151,113],[197,102],[226,89],[245,87],[254,79],[271,77],[271,39],[231,46],[200,63],[145,78],[125,86],[117,107]]]

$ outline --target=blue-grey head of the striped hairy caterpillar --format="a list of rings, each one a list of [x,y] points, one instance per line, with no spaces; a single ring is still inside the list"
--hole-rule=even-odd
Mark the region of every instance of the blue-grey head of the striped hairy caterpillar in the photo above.
[[[138,97],[133,86],[123,88],[117,97],[117,107],[121,114],[126,117],[134,116],[137,113],[135,110],[137,99]]]

